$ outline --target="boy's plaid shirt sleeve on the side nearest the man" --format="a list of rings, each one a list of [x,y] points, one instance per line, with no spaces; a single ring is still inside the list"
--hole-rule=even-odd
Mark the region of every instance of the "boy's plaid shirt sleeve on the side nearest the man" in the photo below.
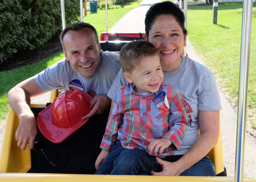
[[[118,106],[118,93],[115,94],[114,105],[113,110],[110,116],[110,120],[107,124],[105,134],[103,135],[103,139],[101,142],[100,148],[102,148],[105,151],[111,151],[112,147],[115,145],[117,141],[117,131],[120,126],[120,124],[123,121],[123,114],[119,111],[121,108]]]

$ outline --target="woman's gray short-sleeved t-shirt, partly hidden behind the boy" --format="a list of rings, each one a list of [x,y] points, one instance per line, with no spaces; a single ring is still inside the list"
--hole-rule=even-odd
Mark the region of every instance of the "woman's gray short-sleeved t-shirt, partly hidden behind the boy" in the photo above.
[[[174,155],[184,155],[200,136],[198,110],[220,110],[220,98],[213,73],[204,65],[182,56],[181,65],[174,71],[164,72],[163,81],[171,84],[183,96],[185,108],[190,123],[188,133]],[[127,83],[122,69],[117,74],[111,86],[108,97],[115,97],[115,90]]]

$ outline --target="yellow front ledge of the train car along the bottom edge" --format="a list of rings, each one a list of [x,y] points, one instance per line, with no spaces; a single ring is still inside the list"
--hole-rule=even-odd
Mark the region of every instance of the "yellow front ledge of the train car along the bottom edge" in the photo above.
[[[175,182],[213,182],[213,181],[223,181],[223,182],[234,182],[234,177],[196,177],[196,176],[135,176],[135,175],[82,175],[82,174],[16,174],[16,173],[0,173],[1,182],[43,182],[43,181],[104,181],[104,182],[137,182],[137,181],[175,181]],[[251,178],[243,178],[244,182],[256,182],[256,180]]]

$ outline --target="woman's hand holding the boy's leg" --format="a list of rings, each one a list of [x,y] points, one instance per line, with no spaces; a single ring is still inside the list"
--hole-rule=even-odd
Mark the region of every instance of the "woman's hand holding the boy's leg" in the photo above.
[[[176,165],[175,162],[168,162],[168,161],[163,161],[162,159],[155,157],[156,161],[158,164],[161,165],[162,171],[161,172],[155,172],[151,171],[151,175],[170,175],[170,176],[179,176],[182,172],[179,172],[178,166]]]

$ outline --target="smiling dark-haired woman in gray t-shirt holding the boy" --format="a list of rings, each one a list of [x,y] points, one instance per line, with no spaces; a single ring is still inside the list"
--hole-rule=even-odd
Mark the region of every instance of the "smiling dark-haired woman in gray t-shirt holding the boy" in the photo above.
[[[184,20],[183,12],[171,2],[154,4],[145,18],[145,39],[161,48],[163,81],[182,94],[190,123],[173,161],[156,158],[163,171],[151,174],[214,176],[215,169],[207,153],[218,140],[220,99],[213,73],[188,57],[180,56],[186,45]],[[108,96],[113,99],[115,90],[125,83],[120,70]]]

